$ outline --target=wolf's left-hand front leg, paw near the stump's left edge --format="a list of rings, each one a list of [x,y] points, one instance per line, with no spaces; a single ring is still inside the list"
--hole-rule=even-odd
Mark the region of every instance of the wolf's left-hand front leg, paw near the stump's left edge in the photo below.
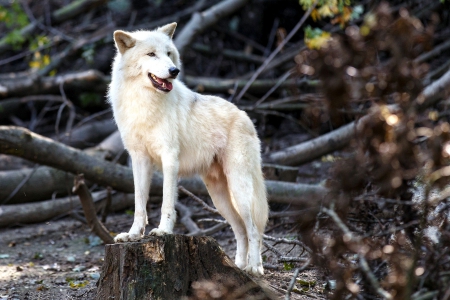
[[[134,177],[134,222],[129,232],[118,234],[114,241],[137,241],[144,236],[147,219],[147,200],[152,181],[152,165],[144,152],[130,151]]]

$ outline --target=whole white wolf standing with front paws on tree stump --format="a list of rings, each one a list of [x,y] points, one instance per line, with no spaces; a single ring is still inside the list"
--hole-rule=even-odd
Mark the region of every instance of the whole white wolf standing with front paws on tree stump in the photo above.
[[[161,222],[152,235],[171,234],[178,176],[201,175],[236,236],[236,265],[262,275],[262,234],[268,204],[260,142],[247,114],[218,97],[189,90],[176,79],[177,24],[154,31],[115,31],[117,55],[109,101],[133,167],[134,222],[116,242],[139,240],[154,167],[164,174]]]

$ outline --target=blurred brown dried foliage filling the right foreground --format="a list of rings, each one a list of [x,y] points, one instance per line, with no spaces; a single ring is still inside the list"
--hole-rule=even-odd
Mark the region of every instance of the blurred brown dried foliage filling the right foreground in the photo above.
[[[331,199],[302,224],[313,263],[336,283],[333,299],[450,297],[450,72],[436,98],[420,56],[434,27],[384,3],[297,59],[321,80],[332,122],[343,110],[367,111],[351,154],[334,165]]]

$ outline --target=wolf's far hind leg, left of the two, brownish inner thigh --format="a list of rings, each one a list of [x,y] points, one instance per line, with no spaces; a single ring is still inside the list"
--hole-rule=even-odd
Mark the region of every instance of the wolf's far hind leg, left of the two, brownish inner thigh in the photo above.
[[[235,263],[240,269],[247,266],[248,239],[244,221],[231,202],[228,183],[222,166],[213,163],[209,172],[203,176],[206,188],[220,214],[230,223],[236,237]]]

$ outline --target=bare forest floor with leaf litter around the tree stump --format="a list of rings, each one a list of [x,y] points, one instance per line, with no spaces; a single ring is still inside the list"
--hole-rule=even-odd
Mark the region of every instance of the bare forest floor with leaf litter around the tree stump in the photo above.
[[[108,228],[126,230],[132,216],[115,214],[106,222]],[[273,236],[287,237],[278,232]],[[292,235],[294,236],[294,235]],[[234,257],[235,240],[230,229],[213,236],[224,251]],[[283,249],[279,248],[283,251]],[[290,255],[298,254],[294,249]],[[268,261],[271,253],[266,252]],[[44,224],[28,225],[0,231],[0,299],[94,299],[100,276],[104,246],[79,221],[68,218]],[[266,269],[263,280],[282,296],[294,269]],[[323,284],[318,271],[308,268],[300,273],[303,294],[293,293],[291,299],[322,299]]]

